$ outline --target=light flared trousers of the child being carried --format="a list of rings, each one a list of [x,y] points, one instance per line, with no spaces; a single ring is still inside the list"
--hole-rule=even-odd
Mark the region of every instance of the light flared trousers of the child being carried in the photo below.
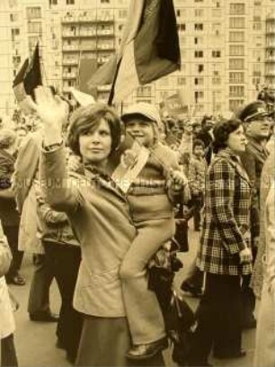
[[[173,216],[135,223],[137,237],[129,248],[120,277],[129,329],[134,345],[155,342],[165,336],[164,318],[155,292],[148,290],[147,264],[157,250],[173,237]]]

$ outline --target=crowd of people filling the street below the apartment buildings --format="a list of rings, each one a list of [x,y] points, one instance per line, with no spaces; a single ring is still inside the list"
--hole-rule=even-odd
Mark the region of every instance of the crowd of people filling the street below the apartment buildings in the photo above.
[[[161,117],[149,103],[121,115],[103,103],[72,112],[41,86],[29,103],[15,129],[0,128],[1,366],[17,365],[7,287],[25,285],[24,252],[34,264],[26,312],[57,322],[56,345],[70,363],[164,365],[167,330],[148,264],[172,240],[187,252],[192,220],[200,244],[181,288],[200,303],[187,365],[208,366],[211,352],[244,357],[243,330],[256,327],[254,367],[273,367],[274,112],[266,103],[201,121]],[[53,279],[59,315],[49,304]]]

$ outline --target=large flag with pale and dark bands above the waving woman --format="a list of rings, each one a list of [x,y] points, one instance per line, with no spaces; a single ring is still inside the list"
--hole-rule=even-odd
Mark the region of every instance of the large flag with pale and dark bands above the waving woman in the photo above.
[[[132,0],[117,65],[110,102],[181,68],[173,0]]]

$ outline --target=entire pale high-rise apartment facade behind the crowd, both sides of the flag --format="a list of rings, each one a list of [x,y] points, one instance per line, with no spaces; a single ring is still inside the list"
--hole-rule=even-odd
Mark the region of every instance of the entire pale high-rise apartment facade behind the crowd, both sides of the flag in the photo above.
[[[174,0],[182,69],[137,88],[125,103],[161,103],[179,92],[195,116],[234,111],[257,85],[274,84],[275,0]],[[79,61],[91,73],[118,49],[129,0],[1,0],[0,114],[11,113],[13,77],[40,40],[42,75],[71,98]],[[110,86],[98,88],[106,99]]]

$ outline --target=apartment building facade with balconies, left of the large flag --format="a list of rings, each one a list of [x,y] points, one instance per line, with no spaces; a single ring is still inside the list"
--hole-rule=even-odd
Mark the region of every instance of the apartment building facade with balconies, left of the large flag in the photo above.
[[[13,78],[40,43],[42,78],[71,98],[80,58],[100,67],[118,49],[129,0],[1,0],[0,115],[16,107]],[[106,99],[110,86],[98,88]]]

